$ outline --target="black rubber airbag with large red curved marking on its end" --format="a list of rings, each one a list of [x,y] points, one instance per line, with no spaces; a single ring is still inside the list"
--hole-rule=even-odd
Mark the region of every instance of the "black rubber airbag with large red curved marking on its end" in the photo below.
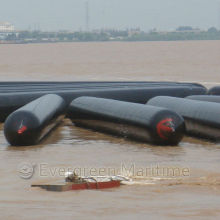
[[[176,145],[184,134],[184,120],[165,108],[111,99],[80,97],[67,116],[77,126],[159,145]]]

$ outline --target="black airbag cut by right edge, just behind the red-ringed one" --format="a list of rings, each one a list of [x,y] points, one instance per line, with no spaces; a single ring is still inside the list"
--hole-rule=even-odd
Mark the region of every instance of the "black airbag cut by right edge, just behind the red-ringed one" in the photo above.
[[[158,96],[148,101],[148,105],[172,109],[185,119],[186,132],[193,136],[220,139],[220,104]]]

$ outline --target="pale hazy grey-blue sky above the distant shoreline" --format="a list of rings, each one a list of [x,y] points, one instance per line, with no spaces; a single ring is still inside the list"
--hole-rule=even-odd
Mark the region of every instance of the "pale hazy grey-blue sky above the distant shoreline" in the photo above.
[[[220,0],[88,0],[90,29],[220,27]],[[86,0],[0,0],[0,21],[19,29],[85,29]]]

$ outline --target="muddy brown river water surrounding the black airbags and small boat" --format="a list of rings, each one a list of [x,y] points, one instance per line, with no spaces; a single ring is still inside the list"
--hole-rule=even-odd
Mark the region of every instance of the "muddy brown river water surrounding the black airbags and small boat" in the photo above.
[[[0,80],[177,80],[211,87],[220,83],[219,60],[220,41],[0,45]],[[32,178],[20,177],[23,163],[34,165]],[[6,142],[1,125],[0,215],[218,219],[219,165],[220,144],[190,137],[179,146],[151,146],[76,128],[65,120],[39,145],[16,148]],[[122,171],[134,182],[63,193],[30,187],[62,179],[68,169],[82,174]]]

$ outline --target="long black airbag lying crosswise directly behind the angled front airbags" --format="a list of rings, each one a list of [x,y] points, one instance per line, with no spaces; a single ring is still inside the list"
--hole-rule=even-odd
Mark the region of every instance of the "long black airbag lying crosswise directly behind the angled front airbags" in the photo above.
[[[51,92],[51,91],[50,91]],[[116,99],[120,101],[145,104],[149,99],[158,95],[186,97],[189,95],[205,94],[202,86],[147,86],[147,87],[123,87],[123,88],[77,88],[72,90],[52,91],[64,98],[67,104],[80,96],[93,96],[100,98]],[[10,92],[0,94],[0,121],[23,105],[48,94],[48,91]]]

